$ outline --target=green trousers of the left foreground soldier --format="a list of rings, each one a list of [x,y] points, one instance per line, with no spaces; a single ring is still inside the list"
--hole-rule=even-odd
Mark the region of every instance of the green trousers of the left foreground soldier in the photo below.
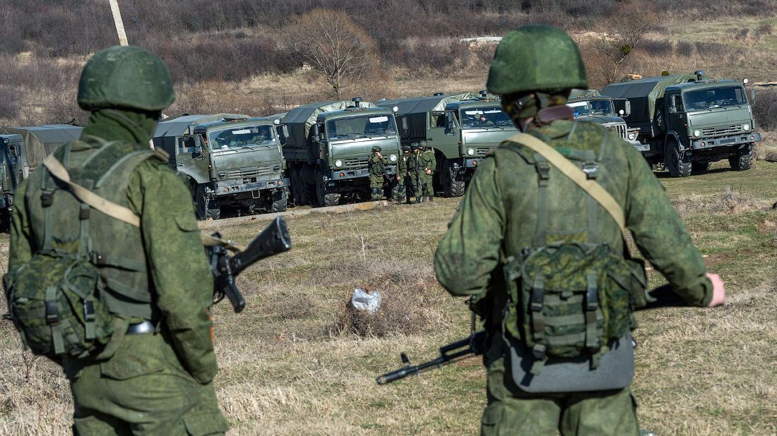
[[[224,434],[213,383],[183,369],[162,334],[127,335],[116,355],[83,365],[65,359],[74,434]]]

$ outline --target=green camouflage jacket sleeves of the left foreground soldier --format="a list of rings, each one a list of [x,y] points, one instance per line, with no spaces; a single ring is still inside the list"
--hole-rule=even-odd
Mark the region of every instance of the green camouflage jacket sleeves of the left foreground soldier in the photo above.
[[[70,161],[83,161],[78,154],[90,154],[100,146],[89,140],[75,144]],[[44,167],[37,171],[44,171]],[[32,208],[40,206],[27,204],[25,199],[28,181],[38,179],[31,176],[16,192],[9,249],[12,270],[40,249],[37,241],[41,240],[43,223],[32,220]],[[115,243],[134,244],[135,249],[144,251],[153,311],[161,315],[163,330],[169,332],[184,367],[198,381],[210,382],[218,371],[207,313],[213,303],[213,276],[200,241],[191,193],[167,162],[151,158],[131,174],[127,204],[141,216],[141,240]],[[89,233],[94,237],[99,229]]]

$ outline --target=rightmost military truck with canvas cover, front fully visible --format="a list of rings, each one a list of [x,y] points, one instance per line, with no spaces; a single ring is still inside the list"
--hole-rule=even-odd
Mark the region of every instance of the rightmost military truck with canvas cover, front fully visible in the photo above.
[[[707,171],[723,159],[735,171],[747,170],[761,140],[743,83],[703,73],[622,81],[601,91],[629,99],[632,111],[624,119],[639,128],[643,156],[653,166],[665,165],[671,177]]]

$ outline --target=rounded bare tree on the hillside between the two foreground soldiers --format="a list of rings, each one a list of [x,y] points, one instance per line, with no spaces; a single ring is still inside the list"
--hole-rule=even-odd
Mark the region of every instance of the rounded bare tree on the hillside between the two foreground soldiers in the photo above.
[[[343,11],[306,12],[291,26],[289,36],[294,52],[322,74],[337,99],[345,81],[364,78],[378,64],[375,42]]]

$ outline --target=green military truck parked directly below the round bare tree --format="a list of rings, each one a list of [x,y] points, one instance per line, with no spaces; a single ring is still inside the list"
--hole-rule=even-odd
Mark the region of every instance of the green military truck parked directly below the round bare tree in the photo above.
[[[392,109],[358,97],[316,102],[289,110],[280,125],[287,127],[283,149],[294,204],[335,206],[343,196],[368,198],[367,161],[374,146],[389,161],[386,174],[396,174],[399,137]],[[387,186],[390,196],[396,184]]]

